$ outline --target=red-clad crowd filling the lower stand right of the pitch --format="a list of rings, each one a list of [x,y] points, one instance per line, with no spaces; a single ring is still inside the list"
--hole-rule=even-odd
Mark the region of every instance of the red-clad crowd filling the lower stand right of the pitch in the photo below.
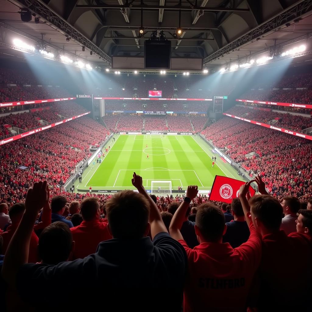
[[[202,134],[251,176],[260,174],[277,198],[312,196],[310,141],[230,117],[220,119]],[[252,152],[259,156],[246,157]]]

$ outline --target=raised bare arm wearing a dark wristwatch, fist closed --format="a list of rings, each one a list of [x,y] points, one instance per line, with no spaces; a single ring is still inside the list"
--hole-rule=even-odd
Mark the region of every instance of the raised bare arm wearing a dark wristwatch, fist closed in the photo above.
[[[183,236],[180,232],[180,229],[182,227],[183,221],[185,219],[186,212],[188,210],[188,207],[190,205],[191,200],[193,200],[198,193],[198,187],[197,185],[190,185],[188,186],[188,189],[186,190],[186,199],[184,198],[183,202],[181,202],[178,210],[173,215],[173,218],[171,220],[170,226],[169,226],[169,233],[172,238],[175,240],[183,239]]]

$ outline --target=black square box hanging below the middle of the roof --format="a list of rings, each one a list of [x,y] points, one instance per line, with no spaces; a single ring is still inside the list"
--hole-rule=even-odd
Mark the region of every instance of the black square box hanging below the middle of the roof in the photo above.
[[[171,41],[145,40],[144,66],[145,68],[169,69],[171,56]]]

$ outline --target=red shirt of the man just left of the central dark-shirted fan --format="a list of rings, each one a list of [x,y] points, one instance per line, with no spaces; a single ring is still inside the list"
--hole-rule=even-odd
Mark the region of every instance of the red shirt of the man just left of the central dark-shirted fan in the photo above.
[[[71,228],[75,250],[73,259],[84,258],[96,252],[96,248],[101,241],[112,238],[107,229],[108,223],[100,220],[82,221],[77,227]]]

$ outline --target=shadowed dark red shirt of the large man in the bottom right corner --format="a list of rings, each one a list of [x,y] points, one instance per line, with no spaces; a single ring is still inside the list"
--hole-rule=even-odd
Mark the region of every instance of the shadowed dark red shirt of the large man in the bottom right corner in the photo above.
[[[280,230],[264,235],[262,241],[259,305],[263,310],[279,307],[285,311],[293,306],[304,311],[300,304],[308,298],[305,294],[311,285],[311,237],[297,232],[287,236]]]

